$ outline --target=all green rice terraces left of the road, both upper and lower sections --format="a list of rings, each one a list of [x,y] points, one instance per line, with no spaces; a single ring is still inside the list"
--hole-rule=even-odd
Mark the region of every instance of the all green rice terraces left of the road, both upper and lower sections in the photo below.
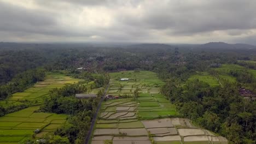
[[[24,92],[15,93],[7,100],[0,101],[0,105],[29,104],[27,109],[9,113],[0,117],[0,143],[18,143],[26,137],[31,137],[33,131],[40,129],[36,137],[53,132],[66,123],[67,115],[56,115],[54,113],[34,112],[38,110],[43,99],[48,97],[50,89],[63,87],[66,83],[78,82],[79,79],[62,74],[48,74],[45,80],[36,83]]]

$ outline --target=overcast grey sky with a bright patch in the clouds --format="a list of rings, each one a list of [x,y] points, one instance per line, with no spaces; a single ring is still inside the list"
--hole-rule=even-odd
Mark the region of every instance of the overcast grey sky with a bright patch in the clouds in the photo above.
[[[256,45],[256,1],[0,0],[0,41]]]

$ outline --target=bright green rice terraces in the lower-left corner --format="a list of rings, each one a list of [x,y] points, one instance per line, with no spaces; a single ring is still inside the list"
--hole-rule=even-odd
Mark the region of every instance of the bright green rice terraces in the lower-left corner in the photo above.
[[[31,137],[36,129],[41,130],[36,137],[42,137],[66,123],[67,115],[34,112],[38,109],[39,106],[28,107],[0,117],[0,143],[18,143]]]

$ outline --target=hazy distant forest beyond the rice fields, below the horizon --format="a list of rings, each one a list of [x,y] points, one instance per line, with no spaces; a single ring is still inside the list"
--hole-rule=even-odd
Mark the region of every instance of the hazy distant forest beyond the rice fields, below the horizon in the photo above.
[[[236,52],[244,53],[244,55],[256,50],[252,49],[255,47],[252,45],[231,45],[226,43],[208,43],[203,45],[135,44],[119,47],[123,48],[95,47],[90,44],[0,43],[0,85],[10,81],[16,74],[41,66],[45,66],[50,70],[68,69],[91,65],[92,61],[96,60],[100,64],[97,67],[101,67],[105,62],[108,63],[102,67],[104,70],[132,70],[139,68],[138,63],[141,63],[143,67],[148,67],[149,63],[158,61],[161,58],[166,59],[170,57],[168,55],[173,53],[174,49],[187,53],[201,50],[216,52],[215,50],[218,49],[218,52],[230,53],[231,47],[236,47]],[[237,47],[241,49],[237,49]],[[248,49],[242,49],[242,47],[247,47]],[[119,53],[119,55],[114,55],[114,53]],[[178,53],[176,54],[178,55]],[[125,57],[126,60],[120,57]],[[182,57],[173,57],[172,61],[181,63],[184,60],[177,60],[177,58]],[[151,68],[147,69],[150,70]]]

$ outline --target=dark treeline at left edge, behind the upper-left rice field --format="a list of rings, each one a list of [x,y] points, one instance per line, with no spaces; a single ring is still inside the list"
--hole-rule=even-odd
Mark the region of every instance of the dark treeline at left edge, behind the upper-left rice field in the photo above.
[[[43,81],[45,77],[44,69],[27,70],[16,75],[11,81],[0,86],[0,100],[5,99],[13,93],[22,92],[38,81]]]

